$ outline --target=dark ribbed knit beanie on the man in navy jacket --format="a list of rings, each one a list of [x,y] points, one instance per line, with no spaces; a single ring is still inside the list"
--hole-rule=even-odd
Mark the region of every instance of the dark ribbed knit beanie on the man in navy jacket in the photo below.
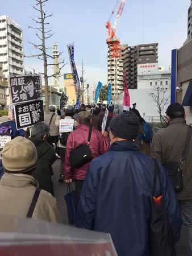
[[[109,126],[111,133],[122,139],[135,139],[139,134],[139,118],[130,111],[116,115]]]

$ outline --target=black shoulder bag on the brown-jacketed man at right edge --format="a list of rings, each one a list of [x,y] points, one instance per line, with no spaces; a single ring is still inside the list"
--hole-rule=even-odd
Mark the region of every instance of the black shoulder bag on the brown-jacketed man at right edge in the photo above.
[[[187,138],[185,145],[182,150],[181,158],[180,158],[180,166],[176,163],[166,163],[164,164],[165,170],[169,176],[169,179],[172,181],[174,191],[176,193],[181,192],[183,189],[183,174],[182,174],[182,164],[185,163],[187,154],[189,151],[189,143],[191,139],[192,129],[189,126],[187,131]]]

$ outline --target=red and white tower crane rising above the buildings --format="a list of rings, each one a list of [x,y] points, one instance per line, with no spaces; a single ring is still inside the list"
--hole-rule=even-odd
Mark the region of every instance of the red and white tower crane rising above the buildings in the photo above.
[[[118,0],[119,2],[119,0]],[[106,43],[108,44],[109,51],[110,51],[110,58],[114,59],[114,98],[118,99],[118,66],[117,66],[117,59],[120,57],[119,50],[120,47],[120,40],[116,37],[115,31],[118,26],[120,16],[123,13],[124,5],[126,4],[126,0],[122,0],[119,6],[118,13],[115,18],[115,22],[113,27],[111,27],[110,20],[106,23],[106,28],[108,30],[108,37]],[[114,11],[112,11],[112,14]]]

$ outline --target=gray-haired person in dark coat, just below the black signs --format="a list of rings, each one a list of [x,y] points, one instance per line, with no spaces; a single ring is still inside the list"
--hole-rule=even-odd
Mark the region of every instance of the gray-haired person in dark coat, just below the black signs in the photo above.
[[[45,122],[35,123],[31,129],[31,137],[28,138],[34,143],[38,160],[36,170],[32,176],[39,182],[39,187],[51,193],[54,196],[51,176],[53,175],[52,164],[57,159],[55,150],[47,142],[49,137],[49,125]]]

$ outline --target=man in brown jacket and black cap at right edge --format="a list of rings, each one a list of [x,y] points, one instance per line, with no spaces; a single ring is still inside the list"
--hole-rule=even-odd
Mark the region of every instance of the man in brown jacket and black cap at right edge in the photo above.
[[[186,142],[187,130],[185,109],[179,103],[170,104],[166,110],[168,125],[155,134],[152,142],[152,156],[163,165],[176,163],[180,166],[183,146]],[[189,152],[182,164],[183,190],[176,194],[180,203],[183,225],[187,229],[188,241],[192,253],[192,136]]]

